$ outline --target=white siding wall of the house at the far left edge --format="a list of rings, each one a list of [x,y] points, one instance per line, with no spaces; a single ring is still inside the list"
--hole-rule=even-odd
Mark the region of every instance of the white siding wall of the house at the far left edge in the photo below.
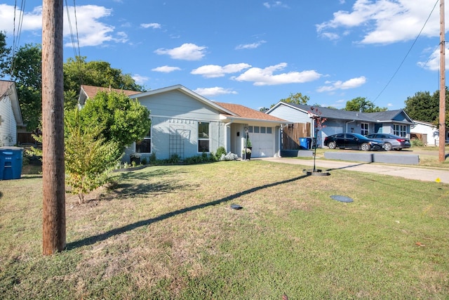
[[[15,121],[11,99],[0,99],[0,147],[17,143],[17,122]]]

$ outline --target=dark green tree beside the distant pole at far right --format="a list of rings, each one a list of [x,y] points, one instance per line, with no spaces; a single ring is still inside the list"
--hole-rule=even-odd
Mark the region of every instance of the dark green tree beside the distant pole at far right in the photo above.
[[[449,91],[446,87],[446,105],[449,103]],[[419,91],[414,96],[406,100],[404,111],[407,115],[417,121],[435,122],[438,124],[438,113],[440,110],[440,91],[435,91],[433,95],[429,91]]]

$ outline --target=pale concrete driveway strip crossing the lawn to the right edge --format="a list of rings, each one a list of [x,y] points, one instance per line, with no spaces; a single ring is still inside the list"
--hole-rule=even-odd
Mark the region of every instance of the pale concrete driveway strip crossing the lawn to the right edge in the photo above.
[[[269,162],[280,162],[283,164],[300,164],[307,167],[314,166],[313,159],[297,159],[290,157],[263,157],[260,159]],[[400,165],[377,164],[373,162],[343,162],[339,160],[321,159],[316,159],[316,169],[346,169],[349,171],[399,176],[420,181],[440,181],[442,183],[449,183],[449,170],[446,169],[428,169],[419,167],[405,167]]]

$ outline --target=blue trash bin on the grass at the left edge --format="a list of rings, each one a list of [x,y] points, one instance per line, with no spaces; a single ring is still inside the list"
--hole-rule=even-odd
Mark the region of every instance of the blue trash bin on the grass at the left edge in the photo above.
[[[22,152],[23,149],[19,147],[0,147],[0,180],[20,178]]]

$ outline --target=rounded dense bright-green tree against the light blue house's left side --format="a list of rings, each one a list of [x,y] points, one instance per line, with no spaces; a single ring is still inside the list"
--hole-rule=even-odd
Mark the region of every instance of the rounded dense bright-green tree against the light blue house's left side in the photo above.
[[[144,138],[151,126],[147,107],[115,91],[97,93],[86,101],[79,115],[83,126],[101,127],[100,138],[116,143],[121,152]]]

